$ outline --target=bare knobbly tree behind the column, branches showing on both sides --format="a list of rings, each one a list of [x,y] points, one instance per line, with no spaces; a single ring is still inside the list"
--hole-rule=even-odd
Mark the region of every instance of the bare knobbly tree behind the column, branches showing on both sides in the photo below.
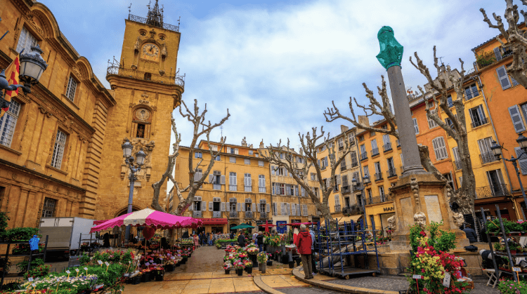
[[[461,188],[457,189],[455,192],[450,188],[449,185],[447,185],[447,194],[450,197],[450,202],[455,202],[460,206],[459,210],[461,213],[472,213],[474,211],[474,199],[476,195],[476,180],[474,178],[474,171],[472,171],[469,144],[467,140],[467,123],[465,120],[463,105],[463,83],[465,81],[463,61],[460,59],[461,72],[450,69],[450,66],[445,67],[444,65],[438,65],[438,58],[436,58],[436,47],[434,46],[434,67],[436,67],[438,76],[434,81],[434,79],[431,77],[429,69],[423,64],[422,60],[417,55],[417,52],[415,53],[415,58],[417,59],[417,64],[412,61],[412,57],[410,57],[410,62],[427,78],[429,85],[434,90],[433,92],[435,92],[431,94],[431,98],[434,100],[434,102],[436,102],[436,105],[441,108],[441,112],[448,116],[448,119],[452,121],[452,124],[448,125],[445,123],[445,121],[441,120],[437,112],[431,112],[428,102],[429,98],[424,99],[427,115],[455,140],[460,155],[460,164],[463,176],[462,185]],[[450,81],[450,83],[448,83],[448,81]],[[373,92],[367,88],[365,83],[363,83],[363,86],[366,91],[366,97],[370,100],[369,106],[359,105],[355,98],[350,98],[349,108],[351,110],[351,117],[348,117],[342,115],[334,102],[332,102],[333,107],[328,107],[324,112],[326,121],[331,122],[336,119],[345,119],[346,121],[353,123],[353,125],[357,128],[362,128],[366,131],[375,131],[378,133],[393,135],[393,137],[398,139],[399,136],[396,131],[396,117],[391,112],[389,106],[389,98],[388,94],[386,93],[386,81],[384,81],[384,76],[382,76],[382,87],[377,87],[382,104],[379,103],[379,100],[375,98]],[[451,86],[453,86],[454,91],[457,94],[457,97],[452,101],[455,107],[455,114],[448,105],[448,89]],[[423,89],[420,86],[418,88],[419,91],[421,91],[422,96],[425,97],[426,93],[423,91]],[[436,95],[438,97],[436,97]],[[384,116],[384,119],[386,119],[389,127],[386,129],[372,128],[360,123],[356,118],[353,109],[353,101],[355,102],[356,107],[363,109],[366,116]],[[432,163],[428,146],[419,146],[419,157],[421,159],[422,166],[429,173],[432,173],[438,180],[446,181],[446,178],[441,174],[440,171],[438,171],[438,169],[434,166],[434,163]]]

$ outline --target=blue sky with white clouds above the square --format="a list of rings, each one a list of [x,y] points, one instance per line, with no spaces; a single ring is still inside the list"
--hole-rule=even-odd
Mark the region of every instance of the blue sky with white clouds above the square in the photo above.
[[[107,60],[119,59],[124,19],[145,17],[149,0],[44,0],[60,29],[105,81]],[[521,4],[515,1],[516,4]],[[472,68],[471,48],[493,38],[497,30],[483,22],[503,15],[502,0],[442,1],[178,1],[160,0],[164,20],[177,25],[181,16],[178,65],[186,73],[183,100],[207,103],[207,119],[219,121],[230,110],[223,135],[240,144],[247,137],[255,147],[291,139],[324,126],[332,135],[341,123],[326,123],[323,112],[335,100],[349,114],[350,96],[365,102],[362,83],[375,89],[384,68],[377,62],[377,32],[393,27],[403,44],[405,84],[417,90],[425,79],[408,62],[417,51],[433,66],[432,48],[451,67]],[[190,124],[174,112],[183,145],[191,139]],[[212,140],[219,140],[220,130]]]

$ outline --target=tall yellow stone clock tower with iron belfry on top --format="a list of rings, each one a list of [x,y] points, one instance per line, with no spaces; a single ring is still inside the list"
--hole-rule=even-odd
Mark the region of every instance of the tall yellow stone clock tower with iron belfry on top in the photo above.
[[[147,154],[134,185],[134,211],[150,208],[152,183],[166,170],[171,150],[171,112],[181,103],[185,83],[184,76],[176,71],[179,26],[164,23],[163,8],[157,0],[153,8],[148,7],[147,18],[129,14],[124,22],[121,57],[109,62],[106,75],[117,105],[108,109],[100,151],[97,220],[126,213],[129,168],[121,149],[126,139],[134,146],[132,156],[141,149]]]

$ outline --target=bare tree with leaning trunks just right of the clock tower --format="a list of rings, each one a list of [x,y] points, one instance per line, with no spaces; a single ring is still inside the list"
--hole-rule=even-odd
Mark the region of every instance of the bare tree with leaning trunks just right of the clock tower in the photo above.
[[[221,126],[227,119],[229,118],[229,110],[227,109],[227,116],[225,116],[219,123],[212,124],[210,121],[208,123],[204,123],[205,121],[205,114],[207,113],[207,104],[205,104],[205,109],[200,114],[200,108],[197,107],[197,100],[194,100],[194,111],[191,112],[190,109],[188,109],[185,102],[181,101],[181,104],[183,107],[185,107],[185,113],[182,111],[181,105],[179,105],[179,113],[183,118],[188,119],[191,123],[194,125],[194,132],[193,132],[193,138],[192,142],[190,143],[190,147],[188,150],[188,182],[190,183],[185,188],[180,188],[178,185],[178,182],[174,180],[174,176],[172,175],[174,171],[174,165],[176,164],[176,158],[179,155],[179,144],[181,142],[181,134],[178,134],[176,130],[176,122],[174,121],[174,118],[172,118],[172,131],[176,135],[176,142],[174,143],[172,147],[172,154],[169,155],[169,160],[167,164],[167,170],[163,173],[161,180],[155,182],[152,184],[152,188],[154,188],[154,196],[152,197],[152,208],[154,208],[156,211],[162,211],[167,212],[165,209],[160,205],[160,189],[162,185],[164,184],[164,181],[167,179],[170,179],[172,183],[174,184],[175,194],[178,196],[179,204],[176,206],[172,211],[169,211],[168,213],[171,213],[173,215],[181,215],[186,211],[186,209],[190,206],[192,203],[194,196],[198,189],[203,185],[203,182],[205,179],[207,179],[210,171],[212,170],[212,166],[214,166],[214,158],[218,156],[219,152],[223,149],[223,142],[225,142],[226,138],[221,138],[221,147],[218,149],[217,152],[213,152],[212,148],[210,146],[210,139],[209,135],[214,128],[217,128]],[[201,128],[201,131],[200,131]],[[196,166],[194,166],[194,157],[192,154],[194,154],[195,146],[198,140],[202,135],[206,135],[207,137],[207,145],[209,147],[209,153],[210,153],[210,161],[209,162],[203,162],[203,158],[199,159]],[[206,167],[206,169],[204,169]],[[202,168],[204,171],[202,172],[201,178],[199,178],[197,175],[197,169]],[[187,197],[183,197],[183,193],[188,192]]]

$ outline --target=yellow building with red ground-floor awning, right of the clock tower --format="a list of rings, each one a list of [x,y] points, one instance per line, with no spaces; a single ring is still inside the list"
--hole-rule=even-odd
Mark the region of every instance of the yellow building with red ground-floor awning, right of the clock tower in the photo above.
[[[220,142],[211,142],[211,149],[217,152]],[[207,141],[201,141],[194,154],[190,148],[181,146],[174,168],[174,179],[180,187],[187,187],[188,161],[193,156],[196,166],[200,159],[210,160]],[[271,181],[269,162],[259,158],[258,149],[243,145],[224,144],[220,154],[214,159],[214,166],[200,190],[195,194],[193,205],[185,213],[193,218],[201,218],[204,227],[197,232],[229,232],[230,227],[242,222],[252,225],[271,223]],[[202,176],[200,170],[197,178]],[[186,198],[188,192],[183,194]],[[179,199],[174,188],[169,193],[168,208],[177,206]],[[263,227],[259,227],[263,230]]]

